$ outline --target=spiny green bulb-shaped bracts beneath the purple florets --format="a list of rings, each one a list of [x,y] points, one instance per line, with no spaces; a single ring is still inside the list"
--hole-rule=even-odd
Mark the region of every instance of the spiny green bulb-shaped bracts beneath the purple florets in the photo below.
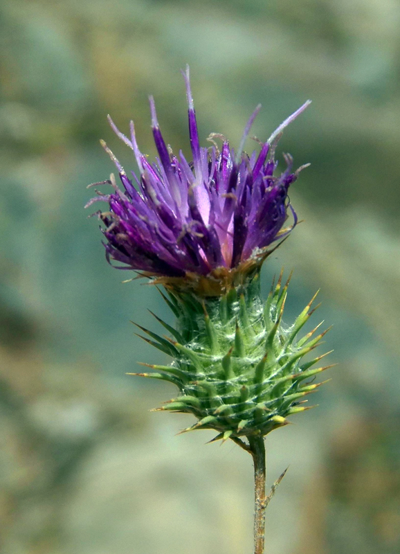
[[[143,364],[159,373],[134,374],[178,386],[179,396],[157,410],[192,413],[199,421],[183,431],[215,429],[215,440],[264,436],[287,425],[288,415],[306,410],[302,399],[319,386],[307,379],[325,369],[311,366],[325,355],[306,362],[302,358],[326,331],[313,337],[318,325],[298,339],[314,311],[309,311],[313,299],[291,327],[282,323],[288,284],[282,286],[281,274],[264,305],[260,271],[217,298],[163,295],[176,316],[176,328],[156,319],[174,339],[140,329],[153,339],[147,342],[174,361],[170,366]]]

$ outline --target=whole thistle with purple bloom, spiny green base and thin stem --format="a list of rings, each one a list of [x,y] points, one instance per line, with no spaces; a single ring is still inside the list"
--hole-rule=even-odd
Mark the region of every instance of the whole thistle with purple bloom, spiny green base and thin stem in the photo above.
[[[156,316],[171,337],[138,325],[149,338],[139,336],[172,357],[172,363],[143,364],[155,371],[130,375],[163,379],[179,388],[179,395],[158,410],[194,415],[197,422],[183,431],[213,429],[217,436],[212,440],[230,438],[253,456],[255,554],[263,554],[264,508],[272,494],[265,496],[264,436],[287,425],[289,415],[307,409],[304,396],[319,386],[307,379],[329,367],[312,368],[324,355],[304,361],[326,332],[314,337],[317,325],[299,337],[314,311],[312,301],[288,326],[282,314],[289,280],[282,285],[281,273],[266,303],[260,293],[262,262],[275,249],[273,243],[296,225],[288,189],[304,167],[292,172],[292,158],[286,154],[287,168],[274,175],[275,148],[284,127],[309,101],[261,144],[258,153],[249,156],[243,148],[260,106],[248,120],[236,153],[217,134],[210,135],[210,148],[201,148],[188,69],[183,76],[192,161],[182,152],[176,157],[165,144],[150,98],[158,159],[150,163],[140,152],[133,122],[128,139],[109,118],[133,150],[140,177],[132,172],[129,178],[103,142],[123,190],[111,175],[101,184],[110,184],[113,193],[98,193],[87,205],[97,200],[109,203],[109,211],[98,212],[105,224],[107,260],[122,262],[120,269],[141,271],[153,283],[163,284],[167,296],[161,294],[176,316],[175,327]],[[222,140],[221,150],[215,139]],[[290,214],[293,222],[284,227]]]

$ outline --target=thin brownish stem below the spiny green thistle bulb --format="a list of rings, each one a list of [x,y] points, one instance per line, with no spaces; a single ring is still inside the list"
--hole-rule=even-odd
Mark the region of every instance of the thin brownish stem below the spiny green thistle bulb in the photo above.
[[[249,437],[248,442],[254,463],[254,554],[264,554],[266,508],[264,437]]]

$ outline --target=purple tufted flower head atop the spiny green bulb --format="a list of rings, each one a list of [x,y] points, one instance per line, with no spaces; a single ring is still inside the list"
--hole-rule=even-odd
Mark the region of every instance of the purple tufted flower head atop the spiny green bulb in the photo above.
[[[297,222],[288,189],[302,168],[292,172],[293,160],[286,154],[287,168],[281,175],[274,175],[278,166],[274,154],[284,127],[310,101],[261,143],[260,152],[242,152],[260,105],[248,120],[236,153],[218,134],[210,135],[210,148],[201,148],[188,68],[183,76],[192,161],[187,161],[181,151],[176,156],[165,144],[152,97],[152,132],[158,151],[153,163],[138,148],[134,123],[131,121],[128,138],[109,117],[114,132],[133,150],[140,175],[131,172],[128,177],[102,141],[118,169],[122,187],[111,175],[102,184],[111,185],[113,192],[97,192],[87,206],[98,200],[108,202],[109,210],[98,215],[105,225],[102,233],[107,241],[107,260],[122,263],[116,265],[119,269],[165,278],[216,276],[221,271],[226,274],[249,260],[264,259],[268,247],[284,238]],[[220,150],[215,139],[222,140]],[[293,224],[283,229],[288,213],[293,216]]]

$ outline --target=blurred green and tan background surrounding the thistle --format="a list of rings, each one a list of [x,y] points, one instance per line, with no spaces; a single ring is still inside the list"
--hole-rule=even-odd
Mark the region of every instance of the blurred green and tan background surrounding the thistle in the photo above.
[[[175,436],[149,412],[174,394],[125,376],[165,362],[134,336],[152,287],[104,260],[85,186],[126,167],[147,95],[188,153],[188,62],[201,140],[234,144],[258,102],[266,139],[307,98],[280,152],[311,162],[291,190],[304,223],[264,268],[295,269],[288,322],[321,287],[334,323],[319,408],[266,440],[271,554],[400,550],[400,4],[397,0],[3,0],[0,6],[0,543],[4,554],[252,551],[251,459]],[[248,148],[251,148],[249,141]],[[256,146],[256,145],[255,145]],[[282,160],[282,157],[280,157]],[[145,381],[145,379],[143,379]],[[313,397],[315,398],[315,397]]]

